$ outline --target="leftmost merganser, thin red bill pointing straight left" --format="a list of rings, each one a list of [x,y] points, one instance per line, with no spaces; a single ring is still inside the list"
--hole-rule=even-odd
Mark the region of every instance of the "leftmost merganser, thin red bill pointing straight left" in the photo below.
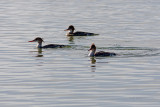
[[[49,44],[49,45],[42,46],[42,42],[44,41],[40,37],[37,37],[34,40],[28,41],[28,42],[37,42],[38,43],[37,48],[62,48],[65,46],[65,45],[58,45],[58,44]]]

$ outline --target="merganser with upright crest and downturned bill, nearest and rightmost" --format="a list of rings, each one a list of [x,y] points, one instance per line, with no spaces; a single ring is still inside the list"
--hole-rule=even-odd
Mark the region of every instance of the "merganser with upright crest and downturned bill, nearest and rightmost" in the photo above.
[[[94,43],[91,45],[88,51],[90,51],[88,54],[88,56],[90,57],[94,57],[94,56],[104,57],[104,56],[115,56],[116,55],[115,53],[112,53],[112,52],[104,52],[104,51],[96,52],[96,46]]]

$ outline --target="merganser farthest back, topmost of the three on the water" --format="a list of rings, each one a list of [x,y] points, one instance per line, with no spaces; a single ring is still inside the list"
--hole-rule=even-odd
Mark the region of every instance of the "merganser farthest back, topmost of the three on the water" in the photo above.
[[[73,25],[70,25],[68,27],[68,29],[64,30],[64,31],[69,31],[66,35],[67,36],[93,36],[93,35],[98,35],[95,33],[89,33],[89,32],[82,32],[82,31],[77,31],[74,32],[75,28]]]

